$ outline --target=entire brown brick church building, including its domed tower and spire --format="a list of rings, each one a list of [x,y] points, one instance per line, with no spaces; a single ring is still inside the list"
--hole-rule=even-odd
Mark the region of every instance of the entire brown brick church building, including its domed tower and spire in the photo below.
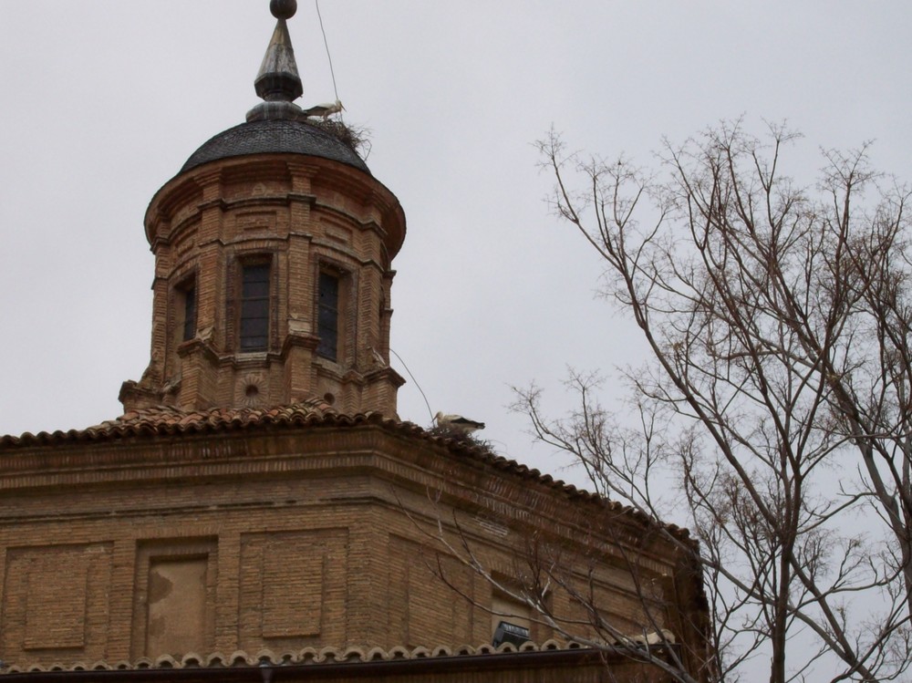
[[[146,212],[124,414],[0,435],[5,683],[665,680],[657,651],[705,679],[687,532],[397,417],[405,217],[294,104],[270,6],[264,101]]]

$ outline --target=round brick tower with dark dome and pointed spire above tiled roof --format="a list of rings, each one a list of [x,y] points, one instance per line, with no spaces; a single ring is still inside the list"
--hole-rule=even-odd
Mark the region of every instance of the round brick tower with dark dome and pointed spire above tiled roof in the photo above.
[[[396,416],[390,285],[405,215],[345,125],[295,105],[295,8],[270,5],[277,24],[254,81],[264,101],[150,202],[151,357],[120,390],[128,412],[319,400]]]

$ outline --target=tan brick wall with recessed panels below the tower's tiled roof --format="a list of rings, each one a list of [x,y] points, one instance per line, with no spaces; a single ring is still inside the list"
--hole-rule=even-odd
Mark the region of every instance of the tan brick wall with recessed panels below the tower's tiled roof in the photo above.
[[[509,604],[501,587],[529,585],[530,560],[556,554],[567,585],[636,630],[629,558],[640,580],[679,571],[658,540],[594,537],[604,506],[376,425],[0,450],[0,491],[7,662],[477,646],[492,605]],[[674,596],[655,597],[665,620]],[[559,587],[547,599],[585,616]],[[535,641],[556,635],[532,625]]]

